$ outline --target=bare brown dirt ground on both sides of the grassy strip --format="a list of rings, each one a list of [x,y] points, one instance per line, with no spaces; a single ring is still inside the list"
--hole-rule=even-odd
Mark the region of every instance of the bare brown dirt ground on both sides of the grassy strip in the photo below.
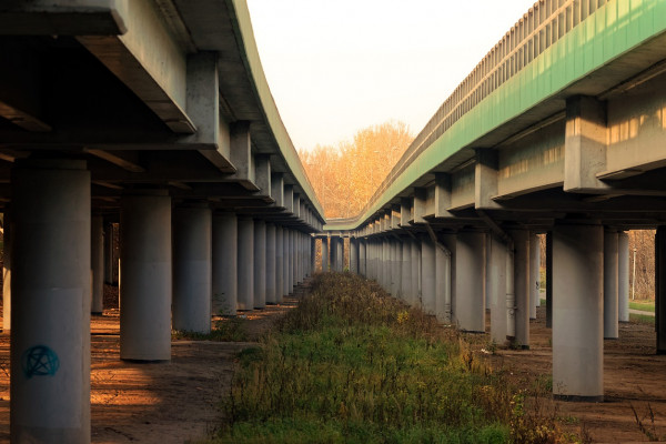
[[[296,297],[248,314],[255,340]],[[229,391],[234,356],[250,343],[173,341],[169,363],[139,364],[119,359],[119,313],[93,316],[91,414],[93,443],[184,443],[206,436],[222,421],[218,408]],[[545,309],[531,323],[528,351],[478,351],[494,367],[516,379],[549,375],[551,330]],[[483,343],[482,341],[475,341]],[[565,427],[587,431],[595,443],[646,442],[648,434],[666,437],[666,356],[655,351],[654,326],[620,324],[620,337],[605,341],[606,402],[567,403],[542,400],[546,411],[565,420]],[[0,335],[0,442],[9,442],[9,335]],[[647,433],[640,431],[632,406]],[[654,423],[649,412],[654,415]]]

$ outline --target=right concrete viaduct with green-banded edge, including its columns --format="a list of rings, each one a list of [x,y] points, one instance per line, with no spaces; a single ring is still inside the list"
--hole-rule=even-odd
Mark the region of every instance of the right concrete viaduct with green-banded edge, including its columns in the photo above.
[[[666,2],[541,0],[416,137],[357,218],[350,268],[470,332],[529,346],[546,235],[553,392],[604,397],[604,339],[628,321],[628,240],[656,228],[666,352]]]

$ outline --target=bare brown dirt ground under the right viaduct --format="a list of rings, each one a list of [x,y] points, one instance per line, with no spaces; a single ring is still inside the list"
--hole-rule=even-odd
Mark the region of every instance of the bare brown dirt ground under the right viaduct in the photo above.
[[[549,376],[552,336],[545,316],[545,307],[539,307],[529,323],[529,350],[498,350],[487,359],[517,379]],[[604,341],[605,402],[555,402],[548,396],[541,400],[542,407],[563,418],[565,430],[581,433],[583,428],[595,443],[647,442],[649,434],[666,441],[666,355],[656,355],[655,350],[653,324],[620,323],[619,339]],[[633,408],[646,432],[640,431]]]

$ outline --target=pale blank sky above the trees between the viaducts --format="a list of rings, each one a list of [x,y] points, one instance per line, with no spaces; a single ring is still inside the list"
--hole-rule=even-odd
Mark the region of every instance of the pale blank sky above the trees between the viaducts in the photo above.
[[[389,120],[417,134],[534,0],[248,0],[297,150]]]

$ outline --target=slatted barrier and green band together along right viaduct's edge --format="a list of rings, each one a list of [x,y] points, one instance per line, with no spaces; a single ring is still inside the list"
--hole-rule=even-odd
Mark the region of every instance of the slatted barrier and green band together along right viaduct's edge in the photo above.
[[[355,218],[354,230],[437,164],[608,61],[666,31],[664,0],[541,0],[416,135]]]

